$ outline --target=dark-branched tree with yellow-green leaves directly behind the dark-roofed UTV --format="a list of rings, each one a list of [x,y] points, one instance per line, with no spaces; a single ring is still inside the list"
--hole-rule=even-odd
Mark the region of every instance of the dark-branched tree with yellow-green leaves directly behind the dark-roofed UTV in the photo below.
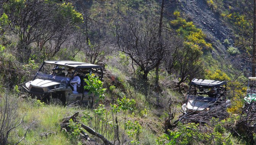
[[[193,43],[182,43],[180,38],[174,38],[171,49],[167,50],[164,65],[168,74],[175,74],[179,78],[178,87],[186,80],[203,75],[200,47]],[[179,89],[181,90],[181,89]]]

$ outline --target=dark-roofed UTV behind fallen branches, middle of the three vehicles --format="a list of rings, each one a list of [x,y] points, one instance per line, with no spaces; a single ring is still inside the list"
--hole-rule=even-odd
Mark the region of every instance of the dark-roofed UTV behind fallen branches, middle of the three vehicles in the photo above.
[[[193,79],[187,93],[187,103],[182,105],[182,112],[196,113],[211,110],[212,107],[222,105],[229,107],[230,100],[226,99],[226,81]]]

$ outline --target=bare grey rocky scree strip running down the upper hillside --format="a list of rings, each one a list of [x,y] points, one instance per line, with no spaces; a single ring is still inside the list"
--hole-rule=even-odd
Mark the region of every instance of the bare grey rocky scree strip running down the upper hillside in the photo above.
[[[220,20],[220,16],[213,13],[206,0],[180,0],[180,9],[190,15],[195,25],[200,27],[206,35],[214,39],[214,47],[221,54],[225,54],[223,45],[225,39],[233,44],[231,30]],[[218,41],[219,40],[219,41]]]

